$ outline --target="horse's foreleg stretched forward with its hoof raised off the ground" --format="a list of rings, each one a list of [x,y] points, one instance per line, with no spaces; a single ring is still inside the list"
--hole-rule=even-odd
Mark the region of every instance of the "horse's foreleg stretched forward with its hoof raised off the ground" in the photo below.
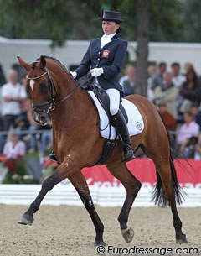
[[[44,183],[42,184],[41,190],[39,191],[39,195],[35,198],[35,200],[31,203],[28,208],[28,211],[23,214],[22,217],[19,218],[18,223],[23,225],[32,225],[33,223],[33,213],[39,210],[39,206],[44,199],[44,196],[48,193],[48,191],[54,188],[54,185],[57,185],[59,182],[68,178],[69,175],[74,174],[76,170],[71,168],[67,169],[66,163],[59,165],[58,169],[54,171],[54,174],[49,176]]]

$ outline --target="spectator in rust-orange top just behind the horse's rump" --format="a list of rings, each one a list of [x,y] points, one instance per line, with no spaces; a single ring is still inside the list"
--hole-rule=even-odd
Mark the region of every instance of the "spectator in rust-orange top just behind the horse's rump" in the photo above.
[[[167,104],[166,102],[159,102],[157,104],[158,112],[160,113],[162,119],[164,120],[164,123],[166,124],[166,127],[169,131],[176,131],[177,128],[177,121],[173,117],[173,115],[168,112],[167,110]]]

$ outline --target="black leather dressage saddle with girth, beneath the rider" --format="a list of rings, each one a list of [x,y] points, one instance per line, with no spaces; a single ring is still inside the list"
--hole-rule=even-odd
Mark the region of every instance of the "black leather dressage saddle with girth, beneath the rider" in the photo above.
[[[106,111],[108,120],[109,120],[109,125],[111,127],[112,122],[111,122],[111,113],[110,113],[110,98],[108,97],[108,95],[106,94],[106,91],[104,91],[101,86],[92,84],[90,86],[85,87],[86,91],[93,91],[95,94],[95,97],[98,99],[98,101],[101,103],[101,106],[103,107],[103,109]],[[92,102],[94,102],[94,100],[91,98]],[[94,102],[95,105],[95,102]],[[95,105],[96,107],[96,105]],[[128,122],[128,117],[125,111],[125,108],[122,106],[121,102],[120,102],[120,110],[122,112],[122,114],[124,115],[124,118],[126,120],[126,123]],[[111,128],[110,128],[111,130]],[[117,138],[117,133],[116,133],[116,138]],[[105,144],[103,145],[103,151],[101,154],[101,158],[98,160],[98,162],[95,165],[104,165],[104,163],[106,163],[106,161],[110,158],[113,149],[116,146],[116,138],[115,139],[111,139],[110,136],[109,138],[105,141]]]

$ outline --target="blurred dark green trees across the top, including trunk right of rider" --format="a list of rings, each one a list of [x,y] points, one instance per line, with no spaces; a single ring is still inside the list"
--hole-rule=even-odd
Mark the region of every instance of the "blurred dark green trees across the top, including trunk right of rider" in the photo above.
[[[146,95],[148,41],[200,42],[200,8],[200,0],[0,0],[0,34],[62,45],[100,36],[102,10],[121,11],[121,37],[137,41],[137,93]]]

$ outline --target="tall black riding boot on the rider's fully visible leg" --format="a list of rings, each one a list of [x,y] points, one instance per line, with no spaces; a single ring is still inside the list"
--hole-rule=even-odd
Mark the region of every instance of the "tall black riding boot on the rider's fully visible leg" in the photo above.
[[[135,155],[131,149],[131,139],[128,133],[128,128],[126,124],[126,120],[121,113],[121,110],[117,112],[116,115],[111,116],[111,120],[114,123],[117,133],[120,134],[123,142],[123,151],[124,151],[124,162],[130,161],[131,159],[135,159]]]

